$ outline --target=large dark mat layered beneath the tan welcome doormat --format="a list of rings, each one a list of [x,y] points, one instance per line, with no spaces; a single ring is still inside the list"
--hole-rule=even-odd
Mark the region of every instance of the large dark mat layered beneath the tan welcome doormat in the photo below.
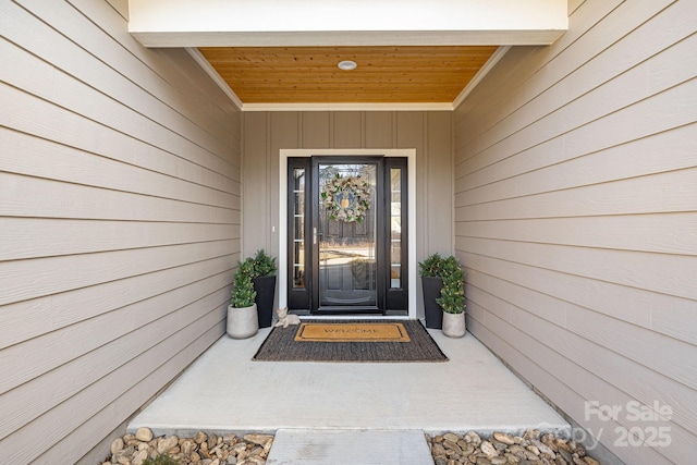
[[[318,334],[325,336],[327,331],[322,327],[308,329],[314,325],[321,325],[325,330],[333,330],[331,341],[318,341]],[[367,362],[367,363],[402,363],[402,362],[447,362],[448,357],[432,340],[426,328],[418,320],[402,320],[396,327],[403,331],[408,341],[380,341],[368,338],[358,339],[357,328],[363,334],[370,327],[367,325],[386,326],[384,320],[304,320],[299,327],[273,328],[264,341],[253,360],[259,362]],[[341,331],[341,327],[345,331]],[[387,338],[394,338],[394,328],[382,331]],[[329,331],[331,333],[332,331]],[[325,333],[325,334],[322,334]],[[296,340],[307,336],[310,340]],[[340,338],[353,338],[351,340]]]

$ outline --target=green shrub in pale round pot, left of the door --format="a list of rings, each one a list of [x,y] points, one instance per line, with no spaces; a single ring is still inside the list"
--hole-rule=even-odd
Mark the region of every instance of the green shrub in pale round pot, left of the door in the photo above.
[[[250,259],[237,262],[232,301],[228,306],[228,334],[234,339],[250,338],[259,330],[253,276],[254,265]]]

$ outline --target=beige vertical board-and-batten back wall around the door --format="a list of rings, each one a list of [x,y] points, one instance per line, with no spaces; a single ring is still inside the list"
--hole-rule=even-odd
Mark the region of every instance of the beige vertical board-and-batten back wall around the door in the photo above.
[[[450,111],[278,111],[243,114],[244,254],[279,249],[281,149],[416,149],[416,255],[450,254],[453,151]],[[417,285],[417,313],[423,302]]]

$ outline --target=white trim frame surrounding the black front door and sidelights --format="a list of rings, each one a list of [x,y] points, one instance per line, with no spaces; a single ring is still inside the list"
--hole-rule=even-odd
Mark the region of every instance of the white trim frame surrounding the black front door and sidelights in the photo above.
[[[404,157],[406,158],[407,171],[407,201],[408,201],[408,318],[416,319],[416,149],[280,149],[279,150],[279,270],[288,268],[288,159],[292,157]],[[279,280],[279,307],[288,305],[288,276],[280,272]],[[356,318],[348,316],[346,318]],[[342,318],[335,316],[332,318]],[[372,315],[371,318],[404,318]]]

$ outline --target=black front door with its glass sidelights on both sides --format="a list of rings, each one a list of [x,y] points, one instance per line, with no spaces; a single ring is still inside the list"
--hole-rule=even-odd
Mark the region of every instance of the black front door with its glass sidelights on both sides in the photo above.
[[[289,307],[407,315],[406,159],[289,159]]]

